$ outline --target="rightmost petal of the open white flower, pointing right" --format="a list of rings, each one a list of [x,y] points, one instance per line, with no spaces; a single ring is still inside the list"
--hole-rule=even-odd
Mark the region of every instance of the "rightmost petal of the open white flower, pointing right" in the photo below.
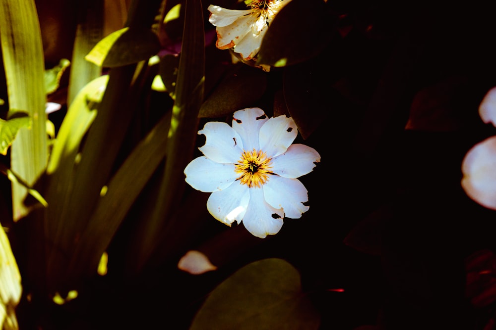
[[[320,162],[318,152],[304,144],[291,144],[285,153],[272,158],[271,172],[285,178],[299,178],[315,168]]]

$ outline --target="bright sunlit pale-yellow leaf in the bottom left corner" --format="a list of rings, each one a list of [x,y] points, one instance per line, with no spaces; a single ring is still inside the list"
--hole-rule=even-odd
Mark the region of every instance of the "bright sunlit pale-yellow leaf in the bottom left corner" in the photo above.
[[[15,306],[21,298],[21,275],[0,224],[0,328],[18,329]]]

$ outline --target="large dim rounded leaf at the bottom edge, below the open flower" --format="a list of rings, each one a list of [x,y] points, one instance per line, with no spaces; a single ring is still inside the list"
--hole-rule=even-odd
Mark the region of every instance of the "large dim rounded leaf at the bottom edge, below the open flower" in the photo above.
[[[272,258],[243,267],[217,286],[189,330],[316,330],[319,324],[298,271]]]

